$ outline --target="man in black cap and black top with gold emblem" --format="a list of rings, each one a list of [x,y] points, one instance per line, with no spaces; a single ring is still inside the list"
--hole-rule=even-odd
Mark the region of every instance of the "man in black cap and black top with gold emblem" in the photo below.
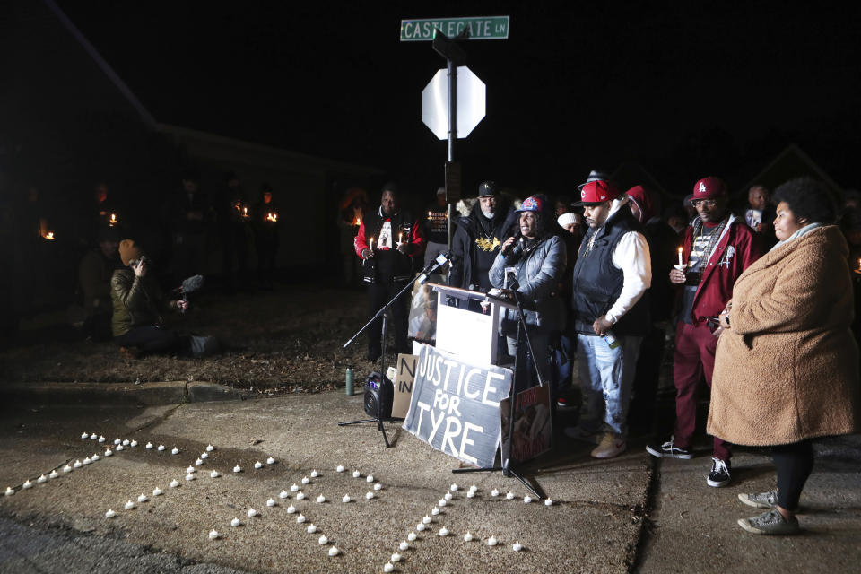
[[[457,222],[452,239],[449,274],[452,287],[490,291],[488,272],[517,222],[512,213],[514,208],[503,204],[494,182],[485,181],[478,187],[478,201],[472,212]]]

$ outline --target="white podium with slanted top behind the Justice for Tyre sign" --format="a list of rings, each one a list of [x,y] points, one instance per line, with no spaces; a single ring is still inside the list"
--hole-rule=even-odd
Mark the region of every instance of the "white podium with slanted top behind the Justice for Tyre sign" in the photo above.
[[[464,361],[478,365],[495,365],[499,336],[501,309],[517,309],[517,305],[488,297],[484,293],[430,283],[437,291],[437,338],[436,346]],[[461,308],[448,307],[446,296],[461,301]],[[468,301],[486,301],[488,313],[480,313],[468,307]]]

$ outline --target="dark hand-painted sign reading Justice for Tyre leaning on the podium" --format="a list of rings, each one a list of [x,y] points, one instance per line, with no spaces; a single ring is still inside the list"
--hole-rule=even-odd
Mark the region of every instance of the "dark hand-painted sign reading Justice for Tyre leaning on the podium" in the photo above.
[[[500,444],[500,401],[511,371],[471,365],[422,344],[404,429],[447,455],[492,466]]]

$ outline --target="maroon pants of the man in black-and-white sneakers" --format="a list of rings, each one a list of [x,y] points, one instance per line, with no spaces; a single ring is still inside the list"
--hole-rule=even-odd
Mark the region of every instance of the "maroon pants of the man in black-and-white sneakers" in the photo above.
[[[693,431],[697,424],[697,387],[705,376],[711,388],[711,373],[715,370],[715,350],[718,337],[712,335],[705,323],[700,326],[679,321],[675,325],[675,355],[673,378],[675,381],[674,444],[691,448]],[[713,456],[728,461],[730,445],[715,437]]]

